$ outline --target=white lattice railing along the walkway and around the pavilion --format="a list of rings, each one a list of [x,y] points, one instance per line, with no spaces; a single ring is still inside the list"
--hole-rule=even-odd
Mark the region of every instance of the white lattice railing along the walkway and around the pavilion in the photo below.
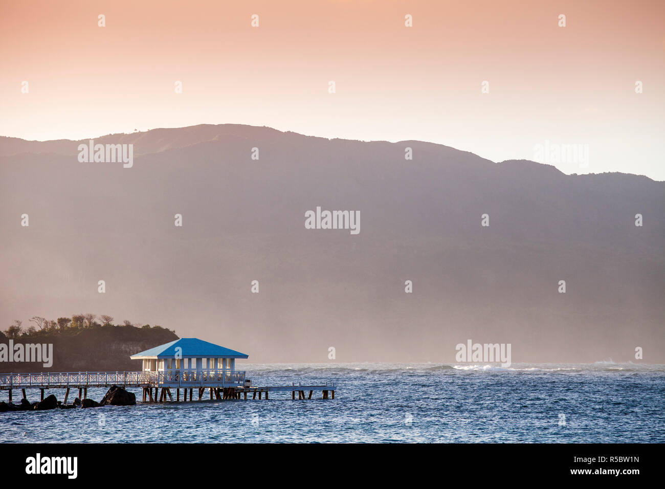
[[[233,387],[245,383],[241,371],[41,372],[0,374],[0,389],[26,387]]]

